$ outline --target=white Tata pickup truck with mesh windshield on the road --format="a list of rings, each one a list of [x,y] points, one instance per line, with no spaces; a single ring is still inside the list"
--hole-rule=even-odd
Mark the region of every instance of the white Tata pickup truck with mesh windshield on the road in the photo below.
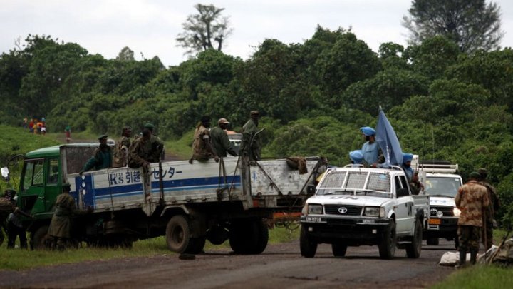
[[[328,168],[301,211],[301,255],[312,258],[319,243],[329,243],[335,256],[348,246],[378,245],[380,258],[395,248],[418,258],[428,196],[413,196],[404,171],[348,165]]]

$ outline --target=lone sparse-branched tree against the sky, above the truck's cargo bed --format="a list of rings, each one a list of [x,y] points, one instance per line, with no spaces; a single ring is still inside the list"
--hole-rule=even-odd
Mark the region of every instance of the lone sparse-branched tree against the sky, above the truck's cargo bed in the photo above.
[[[182,24],[184,31],[176,38],[177,46],[187,49],[185,54],[193,54],[214,49],[214,42],[221,51],[224,39],[232,34],[228,17],[221,17],[224,8],[212,4],[196,4],[195,8],[198,14],[187,16],[187,21]]]

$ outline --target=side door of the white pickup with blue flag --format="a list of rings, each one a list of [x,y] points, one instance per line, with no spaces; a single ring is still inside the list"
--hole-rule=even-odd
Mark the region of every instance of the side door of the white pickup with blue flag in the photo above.
[[[408,182],[405,176],[395,176],[394,180],[396,194],[400,189],[408,190]],[[395,212],[396,232],[410,233],[413,222],[413,199],[409,193],[407,196],[398,196]]]

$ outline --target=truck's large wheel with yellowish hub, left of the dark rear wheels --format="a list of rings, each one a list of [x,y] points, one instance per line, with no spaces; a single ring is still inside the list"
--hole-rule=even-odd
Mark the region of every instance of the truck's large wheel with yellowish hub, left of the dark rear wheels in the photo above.
[[[191,241],[190,225],[185,216],[173,216],[166,227],[167,248],[184,253]]]

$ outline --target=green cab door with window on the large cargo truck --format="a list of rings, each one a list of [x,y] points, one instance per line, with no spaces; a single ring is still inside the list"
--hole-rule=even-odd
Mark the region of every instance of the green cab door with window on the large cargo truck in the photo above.
[[[44,196],[44,158],[26,160],[21,173],[21,210],[31,213],[46,212]]]

